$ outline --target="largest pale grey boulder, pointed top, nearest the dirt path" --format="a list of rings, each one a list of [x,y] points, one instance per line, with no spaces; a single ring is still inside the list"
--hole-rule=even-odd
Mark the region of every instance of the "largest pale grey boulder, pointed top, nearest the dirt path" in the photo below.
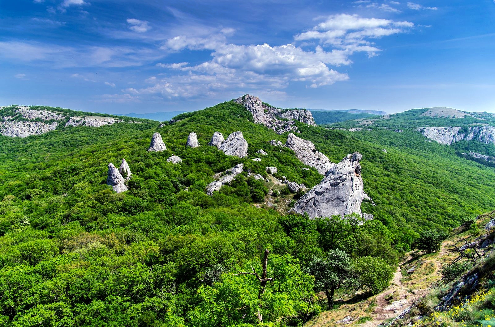
[[[364,193],[361,178],[361,154],[354,152],[334,165],[320,184],[304,194],[294,205],[294,211],[310,218],[330,217],[356,212],[362,217],[361,202],[371,201]]]

